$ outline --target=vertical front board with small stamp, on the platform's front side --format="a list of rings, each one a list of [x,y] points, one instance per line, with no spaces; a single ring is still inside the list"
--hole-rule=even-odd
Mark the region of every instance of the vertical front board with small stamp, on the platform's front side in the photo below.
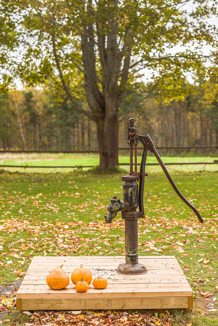
[[[188,308],[189,297],[22,299],[23,310],[175,309]]]

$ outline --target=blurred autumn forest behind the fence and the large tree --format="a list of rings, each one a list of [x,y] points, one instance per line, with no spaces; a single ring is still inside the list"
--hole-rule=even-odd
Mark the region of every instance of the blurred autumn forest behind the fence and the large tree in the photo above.
[[[157,146],[218,144],[217,101],[205,105],[199,97],[190,95],[167,105],[150,98],[134,109],[125,103],[120,110],[119,147],[125,147],[131,116],[137,120],[139,132],[149,133]],[[46,88],[27,87],[0,96],[0,148],[97,150],[96,125],[67,98],[55,96]]]

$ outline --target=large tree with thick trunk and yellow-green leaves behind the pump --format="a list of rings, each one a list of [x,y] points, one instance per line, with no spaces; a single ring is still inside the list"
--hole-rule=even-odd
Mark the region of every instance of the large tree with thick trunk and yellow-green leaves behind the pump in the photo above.
[[[217,37],[208,23],[217,1],[3,0],[1,6],[6,25],[14,26],[6,43],[21,58],[19,65],[8,59],[8,74],[16,67],[23,81],[52,83],[93,119],[102,167],[118,163],[118,114],[127,96],[132,107],[155,88],[181,99],[187,73],[205,69],[203,47]],[[152,79],[131,97],[145,68]]]

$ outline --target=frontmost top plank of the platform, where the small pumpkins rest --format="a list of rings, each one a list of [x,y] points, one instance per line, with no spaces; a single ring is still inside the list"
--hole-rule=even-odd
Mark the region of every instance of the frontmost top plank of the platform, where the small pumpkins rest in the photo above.
[[[188,284],[184,283],[174,283],[174,284],[109,284],[106,289],[95,289],[92,285],[89,286],[89,290],[86,292],[85,296],[94,297],[154,297],[158,296],[189,296],[192,295],[192,289]],[[17,292],[18,298],[75,298],[84,297],[84,294],[76,292],[75,285],[69,284],[65,289],[52,290],[47,285],[21,285]]]

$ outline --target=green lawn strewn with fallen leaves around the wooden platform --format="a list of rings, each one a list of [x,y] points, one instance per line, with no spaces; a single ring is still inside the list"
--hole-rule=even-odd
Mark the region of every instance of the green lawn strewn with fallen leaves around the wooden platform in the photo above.
[[[148,171],[149,173],[149,171]],[[194,290],[193,311],[16,312],[16,289],[33,256],[122,255],[124,223],[103,215],[112,195],[122,199],[122,172],[0,174],[0,324],[216,325],[218,324],[218,172],[174,172],[180,190],[200,210],[200,224],[163,173],[149,173],[140,255],[175,255]],[[19,283],[16,283],[19,284]],[[32,315],[32,313],[34,313]]]

